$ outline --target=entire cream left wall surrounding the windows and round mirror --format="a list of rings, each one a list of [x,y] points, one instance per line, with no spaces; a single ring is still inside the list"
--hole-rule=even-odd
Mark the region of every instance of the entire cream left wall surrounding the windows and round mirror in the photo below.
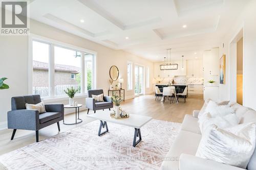
[[[30,32],[39,36],[97,52],[97,88],[102,88],[105,94],[108,93],[109,89],[109,69],[112,65],[116,65],[118,67],[119,72],[124,79],[124,83],[122,84],[124,89],[126,89],[127,85],[127,61],[133,62],[133,66],[135,63],[148,66],[150,68],[151,75],[150,82],[153,80],[153,62],[141,57],[122,50],[113,50],[109,47],[105,47],[90,40],[61,31],[35,20],[30,21]],[[0,129],[6,127],[7,111],[11,109],[11,97],[28,94],[28,53],[27,36],[0,37],[0,77],[9,78],[6,83],[10,85],[9,90],[0,91]],[[152,83],[150,83],[150,88],[145,89],[145,93],[151,93],[152,88]],[[134,90],[125,91],[125,95],[126,99],[133,98]],[[83,102],[82,104],[85,103],[84,98],[77,100],[80,103]],[[67,104],[68,101],[58,101],[58,103]]]

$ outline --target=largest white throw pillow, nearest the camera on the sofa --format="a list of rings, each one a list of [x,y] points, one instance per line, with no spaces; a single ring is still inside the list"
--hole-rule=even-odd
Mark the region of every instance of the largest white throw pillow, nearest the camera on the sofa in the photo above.
[[[256,123],[220,129],[209,126],[200,141],[196,156],[246,168],[255,148]]]

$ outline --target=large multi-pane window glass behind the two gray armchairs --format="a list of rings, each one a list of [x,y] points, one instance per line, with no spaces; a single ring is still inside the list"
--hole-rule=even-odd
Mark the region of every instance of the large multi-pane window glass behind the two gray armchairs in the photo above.
[[[41,98],[67,96],[67,88],[86,94],[95,88],[95,55],[74,47],[33,40],[33,94]]]

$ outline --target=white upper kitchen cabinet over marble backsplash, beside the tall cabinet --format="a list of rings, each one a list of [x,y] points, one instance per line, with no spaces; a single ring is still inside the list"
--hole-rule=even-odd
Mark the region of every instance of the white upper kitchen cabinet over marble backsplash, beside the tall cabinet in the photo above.
[[[203,60],[187,60],[187,77],[202,78],[203,77]]]

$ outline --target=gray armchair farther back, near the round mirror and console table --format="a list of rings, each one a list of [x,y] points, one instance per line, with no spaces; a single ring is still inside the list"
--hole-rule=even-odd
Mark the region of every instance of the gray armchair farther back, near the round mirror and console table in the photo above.
[[[92,94],[99,95],[102,94],[103,90],[88,90],[88,96],[89,98],[86,98],[86,107],[88,108],[87,114],[89,113],[89,110],[94,110],[94,113],[96,113],[96,110],[104,110],[104,109],[111,109],[113,108],[113,102],[111,99],[111,96],[103,96],[104,102],[95,102],[95,99],[92,98]]]

